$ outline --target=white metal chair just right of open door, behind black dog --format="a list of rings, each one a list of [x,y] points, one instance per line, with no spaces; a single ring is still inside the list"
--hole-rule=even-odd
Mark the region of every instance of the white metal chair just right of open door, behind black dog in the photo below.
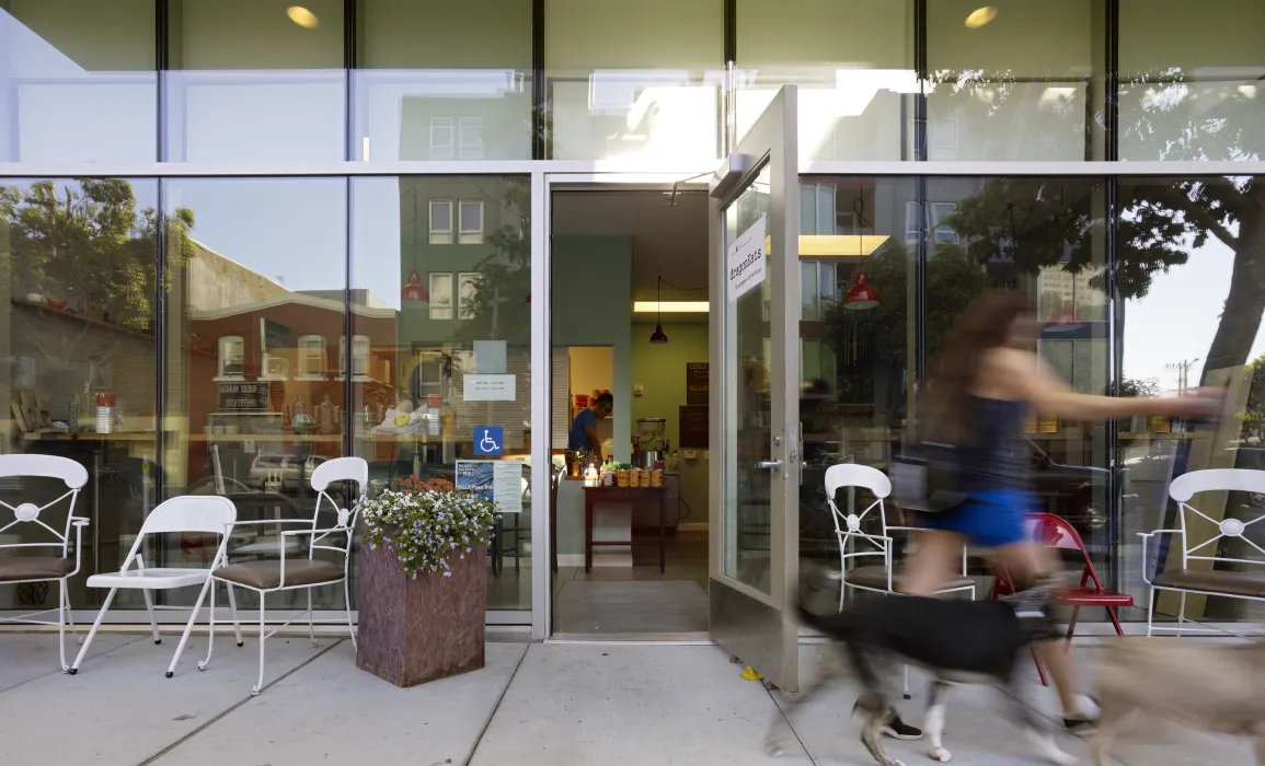
[[[887,523],[885,501],[892,494],[892,482],[883,471],[869,465],[855,463],[841,463],[826,469],[826,501],[830,503],[830,513],[835,521],[835,536],[839,538],[839,611],[844,611],[844,599],[848,588],[868,590],[883,595],[901,595],[901,575],[893,571],[893,538],[892,532],[915,533],[917,527],[899,527]],[[868,489],[874,495],[874,502],[864,511],[856,513],[849,508],[844,513],[835,504],[835,494],[840,489]],[[863,528],[865,520],[877,511],[879,533],[874,535]],[[863,550],[856,551],[861,545]],[[851,552],[849,552],[851,549]],[[863,564],[865,559],[882,559],[880,564]],[[848,569],[849,562],[854,565]],[[966,576],[966,546],[961,549],[961,575],[950,578],[939,594],[970,593],[970,599],[975,600],[975,580]],[[910,666],[904,666],[904,698],[910,699]]]

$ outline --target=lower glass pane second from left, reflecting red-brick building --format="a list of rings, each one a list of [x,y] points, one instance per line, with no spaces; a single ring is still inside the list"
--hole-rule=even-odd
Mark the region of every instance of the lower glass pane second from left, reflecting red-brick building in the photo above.
[[[167,239],[167,494],[228,495],[242,521],[311,520],[311,473],[343,454],[347,181],[180,178],[163,202],[180,221]],[[234,560],[275,559],[276,533],[243,527]],[[213,552],[182,541],[166,556]],[[342,603],[342,588],[318,592],[318,607]]]

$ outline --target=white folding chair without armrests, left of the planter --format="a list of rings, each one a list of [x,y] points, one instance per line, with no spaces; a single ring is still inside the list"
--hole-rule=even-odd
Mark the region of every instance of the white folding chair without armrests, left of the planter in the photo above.
[[[211,648],[215,643],[215,590],[211,587],[211,571],[224,562],[225,551],[228,549],[228,538],[235,521],[237,507],[233,502],[228,498],[210,494],[173,497],[170,501],[159,503],[157,508],[151,511],[149,516],[145,517],[144,523],[140,526],[140,533],[137,535],[135,542],[132,544],[132,550],[123,560],[123,566],[119,568],[119,571],[96,574],[87,579],[89,588],[109,588],[110,592],[105,594],[105,603],[101,604],[101,611],[97,613],[96,621],[92,623],[92,629],[87,633],[87,641],[83,642],[83,647],[80,648],[78,656],[75,657],[75,665],[71,666],[71,675],[78,672],[80,664],[83,661],[83,657],[87,656],[87,650],[92,646],[92,638],[96,637],[96,631],[101,627],[101,621],[105,618],[105,613],[110,611],[114,595],[120,589],[140,590],[144,594],[145,609],[149,612],[149,626],[153,628],[154,643],[162,643],[162,636],[158,632],[158,621],[154,618],[154,609],[183,611],[187,607],[164,604],[156,607],[153,603],[153,592],[173,590],[176,588],[192,588],[195,585],[201,585],[202,590],[197,594],[197,600],[194,603],[192,612],[188,616],[188,622],[185,624],[185,632],[181,635],[180,643],[176,646],[176,655],[171,659],[171,665],[167,667],[167,678],[170,679],[176,674],[176,665],[180,662],[180,656],[185,652],[185,646],[188,643],[188,636],[194,629],[194,623],[197,621],[197,613],[201,611],[202,602],[206,599],[206,593],[210,590],[211,619],[210,633],[206,637],[206,659],[197,664],[199,670],[206,670],[206,666],[211,661]],[[145,538],[154,535],[172,535],[180,532],[204,532],[220,536],[220,545],[215,550],[215,556],[211,559],[210,568],[147,568],[144,562]],[[231,585],[229,585],[229,607],[233,612],[233,628],[237,633],[237,642],[238,646],[242,646],[242,623],[238,622],[237,599],[233,598]]]

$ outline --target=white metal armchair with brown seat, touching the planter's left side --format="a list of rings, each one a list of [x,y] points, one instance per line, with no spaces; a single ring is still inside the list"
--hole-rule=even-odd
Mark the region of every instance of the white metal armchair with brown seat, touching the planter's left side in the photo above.
[[[338,482],[355,482],[358,495],[363,494],[369,485],[369,464],[362,458],[335,458],[321,463],[311,475],[312,489],[316,490],[316,509],[310,520],[304,518],[290,518],[290,520],[264,520],[256,522],[239,522],[242,525],[301,525],[309,528],[304,530],[285,530],[281,532],[277,540],[277,559],[267,561],[243,561],[240,564],[226,564],[216,570],[214,570],[213,576],[229,585],[239,585],[247,588],[259,594],[259,681],[250,690],[252,695],[258,695],[263,690],[263,674],[264,674],[264,643],[278,631],[287,627],[290,623],[299,619],[304,614],[307,616],[307,635],[312,643],[316,643],[316,619],[312,612],[312,588],[319,588],[324,585],[336,585],[343,584],[343,597],[347,603],[347,627],[352,633],[352,645],[355,645],[355,624],[352,621],[352,593],[350,585],[348,583],[348,566],[352,557],[352,536],[355,530],[355,514],[359,511],[359,502],[353,503],[352,508],[340,508],[338,502],[334,501],[328,493],[330,484]],[[328,503],[328,509],[338,514],[338,521],[333,527],[319,528],[318,520],[320,518],[321,509]],[[291,538],[306,538],[307,540],[307,557],[299,560],[287,560],[287,541]],[[323,541],[331,537],[342,537],[345,540],[344,545],[333,545],[326,542],[321,545]],[[342,564],[335,564],[333,561],[326,561],[323,559],[316,559],[316,551],[331,551],[342,556]],[[231,551],[230,551],[231,554]],[[307,590],[307,609],[300,612],[297,617],[287,619],[285,623],[277,626],[271,633],[267,629],[267,612],[264,609],[264,598],[269,593],[278,593],[285,590],[295,589]],[[231,593],[231,592],[230,592]],[[214,621],[214,612],[211,613],[211,619]],[[330,624],[329,621],[320,621],[323,624]],[[342,621],[339,621],[342,623]],[[213,622],[214,629],[214,622]]]

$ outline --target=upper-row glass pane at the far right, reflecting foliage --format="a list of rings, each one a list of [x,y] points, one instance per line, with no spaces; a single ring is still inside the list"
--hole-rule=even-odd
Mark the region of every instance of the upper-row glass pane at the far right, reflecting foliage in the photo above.
[[[1260,159],[1265,5],[1120,0],[1121,159]]]

